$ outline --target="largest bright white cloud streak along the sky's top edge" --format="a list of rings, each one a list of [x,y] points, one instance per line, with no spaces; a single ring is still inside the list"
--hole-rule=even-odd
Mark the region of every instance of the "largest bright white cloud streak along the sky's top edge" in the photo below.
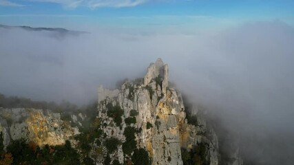
[[[67,8],[77,8],[79,6],[85,6],[87,8],[124,8],[133,7],[136,5],[143,4],[148,0],[29,0],[38,2],[50,2],[50,3],[60,3]]]

